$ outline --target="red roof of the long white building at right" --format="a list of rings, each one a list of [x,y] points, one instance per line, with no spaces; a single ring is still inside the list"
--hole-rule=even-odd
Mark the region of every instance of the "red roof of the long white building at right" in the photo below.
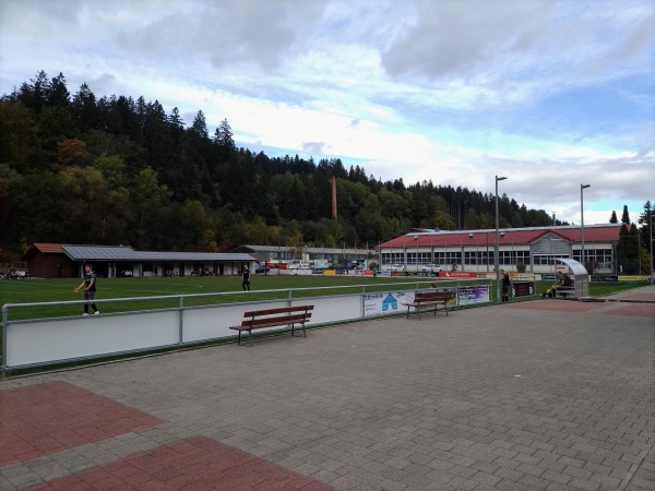
[[[588,226],[584,228],[585,242],[616,242],[619,240],[621,227],[618,225]],[[498,241],[500,244],[525,244],[532,243],[547,233],[560,236],[569,242],[581,242],[582,233],[580,227],[553,227],[553,228],[519,228],[502,229]],[[438,231],[433,233],[407,233],[389,240],[380,248],[428,248],[448,246],[473,246],[496,243],[496,229],[493,230],[462,230],[462,231]]]

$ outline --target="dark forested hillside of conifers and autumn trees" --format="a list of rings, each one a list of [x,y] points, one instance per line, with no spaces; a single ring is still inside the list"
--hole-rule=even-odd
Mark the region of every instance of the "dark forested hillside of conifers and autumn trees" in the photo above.
[[[336,177],[338,220],[331,219]],[[550,224],[503,195],[501,227]],[[271,158],[224,119],[186,124],[143,96],[71,95],[39,72],[0,100],[0,248],[34,242],[228,251],[243,244],[372,247],[412,227],[492,228],[495,196],[382,182],[340,159]]]

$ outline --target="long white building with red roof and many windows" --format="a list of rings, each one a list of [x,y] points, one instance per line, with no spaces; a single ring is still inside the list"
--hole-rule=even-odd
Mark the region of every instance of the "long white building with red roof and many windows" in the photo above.
[[[584,263],[590,273],[617,273],[616,246],[621,224],[584,227]],[[580,226],[509,228],[499,230],[499,265],[516,271],[525,263],[529,273],[551,273],[556,259],[582,261],[583,231]],[[438,264],[442,271],[486,273],[495,267],[496,229],[413,229],[379,246],[381,267],[402,264],[419,271]]]

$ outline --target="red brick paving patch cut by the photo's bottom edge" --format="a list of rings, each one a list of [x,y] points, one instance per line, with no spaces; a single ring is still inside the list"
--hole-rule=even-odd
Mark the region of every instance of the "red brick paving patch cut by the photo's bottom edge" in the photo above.
[[[46,490],[302,490],[329,491],[261,458],[193,436],[103,467],[28,488]]]

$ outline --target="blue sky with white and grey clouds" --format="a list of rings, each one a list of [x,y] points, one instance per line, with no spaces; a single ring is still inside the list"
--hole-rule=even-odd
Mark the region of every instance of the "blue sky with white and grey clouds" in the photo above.
[[[226,118],[239,146],[507,193],[585,224],[655,202],[655,0],[2,0],[0,93]]]

